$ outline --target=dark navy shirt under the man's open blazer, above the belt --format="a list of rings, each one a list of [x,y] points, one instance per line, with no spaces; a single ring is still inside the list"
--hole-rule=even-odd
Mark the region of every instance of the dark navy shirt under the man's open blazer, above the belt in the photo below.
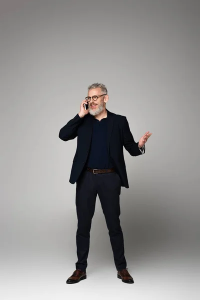
[[[85,165],[98,169],[113,167],[107,151],[107,117],[100,121],[93,117],[91,144]]]

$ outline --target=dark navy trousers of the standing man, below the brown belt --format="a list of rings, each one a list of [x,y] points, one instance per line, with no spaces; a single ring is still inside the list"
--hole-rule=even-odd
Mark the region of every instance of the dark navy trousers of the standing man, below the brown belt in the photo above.
[[[116,270],[126,268],[123,233],[119,220],[120,191],[120,177],[116,172],[93,174],[84,170],[76,181],[75,205],[78,220],[76,231],[76,269],[85,270],[87,267],[89,232],[97,194],[105,217]]]

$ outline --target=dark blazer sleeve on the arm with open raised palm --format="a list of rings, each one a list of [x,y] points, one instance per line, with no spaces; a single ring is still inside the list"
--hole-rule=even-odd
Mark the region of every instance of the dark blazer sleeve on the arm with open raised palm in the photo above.
[[[131,156],[141,155],[142,152],[145,153],[145,147],[141,151],[138,147],[139,142],[135,142],[130,132],[129,124],[126,117],[123,117],[123,146],[130,153]]]

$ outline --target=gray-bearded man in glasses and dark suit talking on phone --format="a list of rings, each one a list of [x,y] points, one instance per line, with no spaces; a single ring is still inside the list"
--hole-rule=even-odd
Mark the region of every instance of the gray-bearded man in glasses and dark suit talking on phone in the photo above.
[[[108,111],[105,108],[107,101],[106,86],[102,83],[91,84],[80,104],[80,111],[59,131],[59,138],[64,141],[77,136],[69,182],[76,182],[78,260],[75,271],[66,283],[76,283],[86,278],[89,232],[97,194],[108,228],[117,277],[125,283],[134,282],[126,267],[119,220],[121,186],[129,187],[123,146],[132,156],[143,154],[144,144],[152,133],[146,131],[135,142],[126,117]],[[84,104],[88,104],[88,109],[85,110]]]

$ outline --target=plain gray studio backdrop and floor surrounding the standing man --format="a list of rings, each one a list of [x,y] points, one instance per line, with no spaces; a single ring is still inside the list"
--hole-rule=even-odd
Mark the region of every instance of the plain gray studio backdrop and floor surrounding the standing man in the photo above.
[[[1,0],[1,299],[197,299],[199,1]],[[75,269],[76,139],[59,129],[107,86],[144,155],[124,150],[121,227],[134,284],[116,277],[96,200],[87,279]],[[86,134],[86,132],[85,132]]]

